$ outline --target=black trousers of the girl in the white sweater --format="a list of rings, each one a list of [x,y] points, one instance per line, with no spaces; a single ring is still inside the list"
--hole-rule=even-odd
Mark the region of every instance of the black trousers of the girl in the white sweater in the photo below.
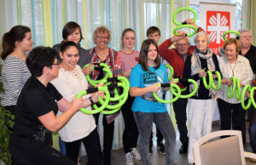
[[[79,139],[73,142],[64,142],[67,151],[67,157],[69,157],[73,162],[78,164],[79,150],[81,142],[83,142],[88,160],[90,164],[101,165],[101,151],[97,139],[96,128],[83,139]]]

